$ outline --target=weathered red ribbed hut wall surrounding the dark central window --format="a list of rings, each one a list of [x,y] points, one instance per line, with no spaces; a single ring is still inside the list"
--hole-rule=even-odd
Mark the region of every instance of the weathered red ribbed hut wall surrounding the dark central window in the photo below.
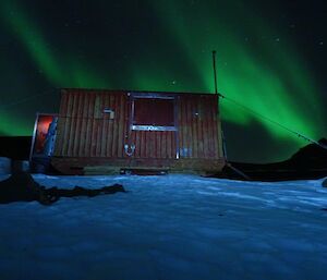
[[[178,132],[131,133],[132,158],[222,157],[217,96],[177,95]],[[55,157],[125,158],[130,102],[126,92],[62,90]],[[113,110],[114,117],[104,113]]]

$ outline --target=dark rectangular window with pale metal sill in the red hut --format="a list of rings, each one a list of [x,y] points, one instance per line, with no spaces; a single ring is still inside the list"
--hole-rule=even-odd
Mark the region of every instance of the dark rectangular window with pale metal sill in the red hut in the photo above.
[[[135,98],[133,129],[169,130],[174,126],[174,100],[161,98]],[[171,129],[170,129],[171,130]]]

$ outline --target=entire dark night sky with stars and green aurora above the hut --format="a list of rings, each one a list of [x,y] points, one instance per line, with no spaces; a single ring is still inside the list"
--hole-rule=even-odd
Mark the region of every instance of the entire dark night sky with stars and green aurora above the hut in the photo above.
[[[313,139],[327,136],[324,1],[1,0],[0,135],[32,135],[59,88],[221,94]],[[230,160],[308,144],[222,99]]]

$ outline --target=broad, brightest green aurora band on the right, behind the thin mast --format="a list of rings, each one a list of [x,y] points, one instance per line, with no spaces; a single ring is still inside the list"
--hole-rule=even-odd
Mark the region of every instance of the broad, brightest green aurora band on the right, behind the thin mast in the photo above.
[[[155,8],[164,25],[174,36],[177,46],[183,47],[185,58],[192,61],[207,92],[214,93],[213,70],[208,59],[210,51],[216,49],[219,92],[310,137],[320,136],[318,131],[323,127],[323,112],[317,90],[291,44],[284,38],[284,42],[278,40],[278,44],[274,39],[263,39],[263,35],[271,38],[272,29],[251,10],[246,10],[245,4],[238,3],[235,7],[234,3],[225,2],[220,9],[220,2],[217,7],[207,5],[207,9],[202,4],[199,9],[203,10],[199,11],[197,7],[179,3],[156,1]],[[243,11],[237,14],[240,7]],[[238,24],[233,19],[238,19]],[[240,33],[249,32],[242,27],[249,19],[255,22],[250,34],[253,39],[258,38],[255,49],[253,45],[246,45],[244,35],[240,36]],[[221,111],[223,120],[238,124],[250,124],[256,118],[223,99]],[[302,139],[292,137],[286,130],[257,120],[271,136],[292,138],[298,146],[303,145]]]

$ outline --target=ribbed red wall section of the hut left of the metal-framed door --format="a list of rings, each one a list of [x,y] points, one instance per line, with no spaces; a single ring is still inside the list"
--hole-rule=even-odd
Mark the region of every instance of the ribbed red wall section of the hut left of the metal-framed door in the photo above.
[[[63,90],[55,156],[125,157],[128,105],[123,93]],[[105,108],[113,111],[112,118]]]

